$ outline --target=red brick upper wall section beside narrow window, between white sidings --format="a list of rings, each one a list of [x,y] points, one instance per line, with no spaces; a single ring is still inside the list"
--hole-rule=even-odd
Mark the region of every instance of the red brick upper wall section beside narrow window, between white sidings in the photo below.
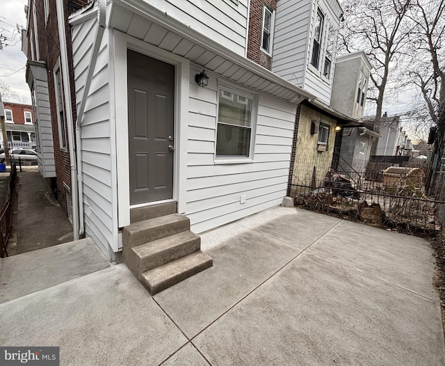
[[[270,70],[272,58],[261,51],[261,33],[263,31],[263,7],[277,10],[277,0],[251,0],[249,13],[248,52],[250,60]],[[270,40],[273,42],[273,39]]]

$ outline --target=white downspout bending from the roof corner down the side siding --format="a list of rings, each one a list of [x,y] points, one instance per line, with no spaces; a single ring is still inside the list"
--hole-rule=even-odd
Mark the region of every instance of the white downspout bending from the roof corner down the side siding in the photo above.
[[[60,1],[60,0],[59,0]],[[105,22],[106,18],[106,0],[99,0],[97,2],[97,28],[95,33],[95,39],[93,41],[93,47],[90,56],[90,63],[88,63],[88,72],[86,76],[85,86],[83,88],[83,94],[81,98],[81,104],[79,106],[79,111],[77,111],[77,120],[76,120],[76,154],[77,154],[77,164],[79,166],[77,170],[77,189],[79,194],[79,212],[80,212],[80,228],[79,234],[83,235],[85,231],[85,225],[83,222],[83,168],[82,168],[82,138],[81,138],[81,126],[83,119],[83,112],[85,111],[85,104],[88,97],[88,93],[90,92],[90,86],[92,81],[92,73],[95,70],[97,55],[99,54],[100,43],[102,41],[102,36],[105,31]]]

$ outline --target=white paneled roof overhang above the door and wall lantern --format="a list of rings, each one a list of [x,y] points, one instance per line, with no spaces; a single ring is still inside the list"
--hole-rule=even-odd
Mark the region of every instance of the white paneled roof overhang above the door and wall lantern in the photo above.
[[[84,8],[84,13],[79,10],[70,17],[70,23],[76,24],[83,19],[90,18],[94,10]],[[152,42],[152,45],[188,58],[195,65],[200,65],[204,70],[215,72],[220,77],[225,77],[243,86],[261,91],[274,97],[298,104],[306,99],[314,100],[316,97],[302,88],[286,81],[277,74],[250,61],[241,54],[221,46],[218,42],[206,35],[191,29],[170,15],[150,6],[140,0],[108,0],[107,10],[108,27],[127,33],[133,14],[143,17],[147,22],[160,26],[165,31],[165,38],[171,37],[177,40],[181,47],[170,49],[171,45],[161,42]],[[128,15],[128,16],[122,16]],[[135,35],[133,35],[135,36]],[[142,39],[142,38],[140,38]],[[145,38],[145,42],[150,42]]]

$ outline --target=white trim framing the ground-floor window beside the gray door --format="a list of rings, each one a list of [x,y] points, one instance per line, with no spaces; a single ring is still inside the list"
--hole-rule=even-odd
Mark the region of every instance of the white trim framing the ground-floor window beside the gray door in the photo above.
[[[249,156],[248,157],[216,157],[216,136],[218,132],[218,113],[219,113],[219,91],[225,90],[229,93],[235,93],[241,97],[248,98],[252,100],[252,111],[250,112],[250,146],[249,146]],[[250,93],[248,90],[237,88],[231,86],[229,83],[225,83],[218,79],[218,91],[216,93],[216,118],[215,118],[215,152],[214,152],[214,164],[244,164],[244,163],[254,163],[254,146],[255,146],[255,136],[257,131],[257,117],[258,117],[258,95]]]

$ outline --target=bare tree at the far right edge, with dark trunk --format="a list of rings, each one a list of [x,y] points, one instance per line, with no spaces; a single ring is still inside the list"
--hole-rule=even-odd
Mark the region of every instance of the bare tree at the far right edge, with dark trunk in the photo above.
[[[408,16],[414,24],[409,74],[437,126],[428,181],[431,188],[445,150],[445,0],[416,0]]]

